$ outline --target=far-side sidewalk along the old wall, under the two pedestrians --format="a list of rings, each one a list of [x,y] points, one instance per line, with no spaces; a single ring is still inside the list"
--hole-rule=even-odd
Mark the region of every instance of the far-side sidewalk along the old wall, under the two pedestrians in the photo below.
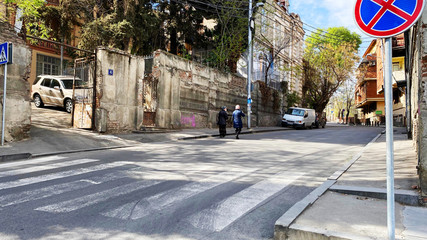
[[[285,131],[283,127],[257,127],[242,129],[241,134]],[[218,129],[183,129],[135,131],[129,134],[107,135],[74,128],[57,128],[35,125],[31,128],[31,137],[21,142],[6,143],[0,146],[0,162],[27,159],[74,152],[97,151],[113,148],[136,146],[142,143],[167,142],[219,136]],[[227,135],[234,135],[234,129],[228,128]],[[229,136],[227,136],[229,137]]]

